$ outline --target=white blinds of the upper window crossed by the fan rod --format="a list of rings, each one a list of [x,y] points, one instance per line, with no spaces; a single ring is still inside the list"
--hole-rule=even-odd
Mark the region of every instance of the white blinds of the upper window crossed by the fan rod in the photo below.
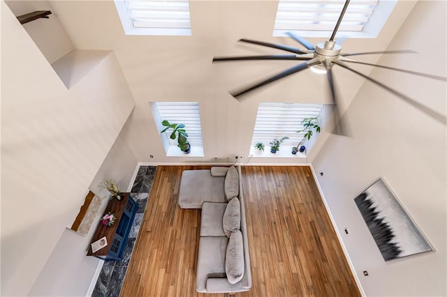
[[[279,0],[275,30],[332,31],[344,0]],[[351,0],[339,31],[362,31],[378,0]]]

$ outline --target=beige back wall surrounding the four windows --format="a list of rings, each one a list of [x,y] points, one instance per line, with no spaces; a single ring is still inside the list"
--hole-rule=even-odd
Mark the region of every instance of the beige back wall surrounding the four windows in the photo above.
[[[125,36],[112,1],[50,1],[50,5],[57,11],[76,48],[115,50],[136,102],[126,139],[140,162],[214,162],[214,157],[226,160],[234,155],[242,156],[240,162],[246,162],[259,102],[330,102],[327,79],[309,70],[281,79],[277,84],[270,84],[238,101],[228,91],[279,73],[295,62],[212,63],[213,56],[283,53],[238,43],[240,38],[299,47],[291,38],[272,37],[277,1],[191,1],[193,35],[180,37]],[[344,51],[384,50],[397,31],[396,24],[404,20],[413,5],[413,1],[399,1],[388,20],[390,26],[386,26],[378,38],[346,40]],[[82,15],[84,22],[79,22],[78,15]],[[323,40],[310,38],[312,43]],[[374,62],[378,56],[366,56],[365,59]],[[343,70],[335,71],[335,75],[344,74]],[[349,105],[362,81],[360,77],[336,80],[344,106]],[[148,104],[154,101],[198,102],[203,128],[203,158],[166,157]],[[321,144],[316,143],[312,153],[320,147]],[[290,158],[250,160],[250,164],[295,162],[298,158],[291,154]]]

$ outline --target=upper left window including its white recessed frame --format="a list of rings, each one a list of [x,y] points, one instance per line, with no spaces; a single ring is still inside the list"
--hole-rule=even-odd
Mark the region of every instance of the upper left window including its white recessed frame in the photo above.
[[[127,35],[191,36],[188,0],[115,0]]]

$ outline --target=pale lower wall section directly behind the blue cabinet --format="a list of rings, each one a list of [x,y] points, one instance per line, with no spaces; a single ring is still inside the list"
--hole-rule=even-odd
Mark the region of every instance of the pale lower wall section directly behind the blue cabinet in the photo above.
[[[90,190],[98,197],[104,197],[108,192],[98,188],[98,183],[101,183],[103,178],[114,178],[120,190],[126,192],[137,165],[129,146],[120,134],[91,182]],[[108,199],[104,199],[87,236],[64,229],[29,296],[87,296],[98,263],[102,260],[86,257],[85,254],[107,204]]]

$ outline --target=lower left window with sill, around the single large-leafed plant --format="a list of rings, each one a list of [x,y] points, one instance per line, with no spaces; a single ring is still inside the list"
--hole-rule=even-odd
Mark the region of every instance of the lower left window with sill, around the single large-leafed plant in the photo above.
[[[159,131],[164,127],[161,122],[166,120],[169,123],[183,123],[186,133],[188,134],[188,142],[191,144],[191,153],[189,156],[203,156],[202,129],[200,126],[200,113],[198,102],[152,102],[152,115]],[[166,155],[179,156],[185,155],[177,147],[177,138],[170,139],[172,129],[161,134],[161,141],[166,151]]]

